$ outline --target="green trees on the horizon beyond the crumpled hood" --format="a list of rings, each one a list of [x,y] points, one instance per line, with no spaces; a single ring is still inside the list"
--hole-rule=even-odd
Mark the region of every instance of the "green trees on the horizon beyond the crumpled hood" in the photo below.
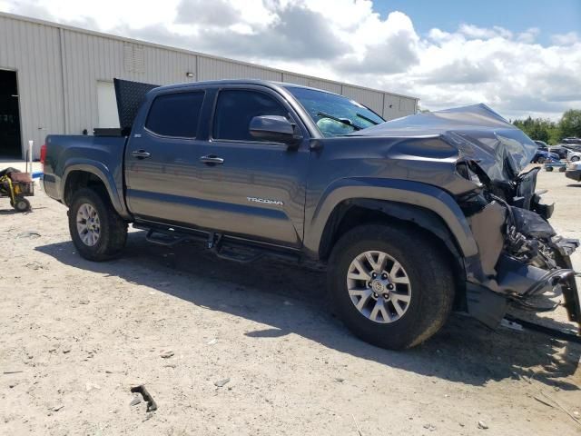
[[[524,120],[515,120],[513,124],[531,139],[557,144],[562,138],[581,137],[581,110],[569,109],[556,123],[548,119],[529,116]]]

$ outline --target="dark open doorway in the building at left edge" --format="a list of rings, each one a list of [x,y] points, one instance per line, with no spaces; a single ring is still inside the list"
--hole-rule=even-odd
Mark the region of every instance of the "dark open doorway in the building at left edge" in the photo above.
[[[0,70],[0,157],[22,156],[16,72]]]

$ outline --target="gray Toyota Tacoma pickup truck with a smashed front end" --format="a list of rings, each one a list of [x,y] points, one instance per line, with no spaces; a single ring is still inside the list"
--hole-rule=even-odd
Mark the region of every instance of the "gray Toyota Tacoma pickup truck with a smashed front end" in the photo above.
[[[554,292],[581,321],[578,243],[547,223],[538,168],[523,171],[537,144],[486,105],[384,122],[296,84],[115,88],[118,131],[44,146],[44,190],[84,258],[119,255],[132,223],[232,261],[318,264],[343,322],[391,349],[453,309],[494,327],[508,305],[554,309]]]

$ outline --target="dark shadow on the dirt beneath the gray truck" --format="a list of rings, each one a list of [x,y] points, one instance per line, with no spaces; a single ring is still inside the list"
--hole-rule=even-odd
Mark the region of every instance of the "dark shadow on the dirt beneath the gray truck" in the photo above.
[[[123,258],[107,263],[85,261],[70,242],[36,250],[76,268],[118,276],[209,310],[269,325],[246,333],[257,341],[294,333],[339,352],[448,381],[484,385],[526,376],[559,389],[579,389],[575,381],[567,380],[576,372],[579,344],[536,332],[492,332],[454,314],[442,331],[419,347],[382,350],[359,341],[332,315],[324,273],[266,258],[232,263],[192,245],[152,245],[143,232],[134,232]]]

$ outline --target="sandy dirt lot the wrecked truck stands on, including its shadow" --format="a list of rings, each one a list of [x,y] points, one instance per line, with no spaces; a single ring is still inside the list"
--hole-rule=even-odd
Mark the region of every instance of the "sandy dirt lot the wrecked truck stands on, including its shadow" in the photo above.
[[[539,188],[578,238],[568,182],[542,172]],[[416,349],[380,350],[330,315],[318,272],[143,232],[89,263],[66,208],[31,200],[26,214],[0,200],[0,434],[581,434],[579,345],[455,314]],[[157,411],[130,405],[140,383]]]

